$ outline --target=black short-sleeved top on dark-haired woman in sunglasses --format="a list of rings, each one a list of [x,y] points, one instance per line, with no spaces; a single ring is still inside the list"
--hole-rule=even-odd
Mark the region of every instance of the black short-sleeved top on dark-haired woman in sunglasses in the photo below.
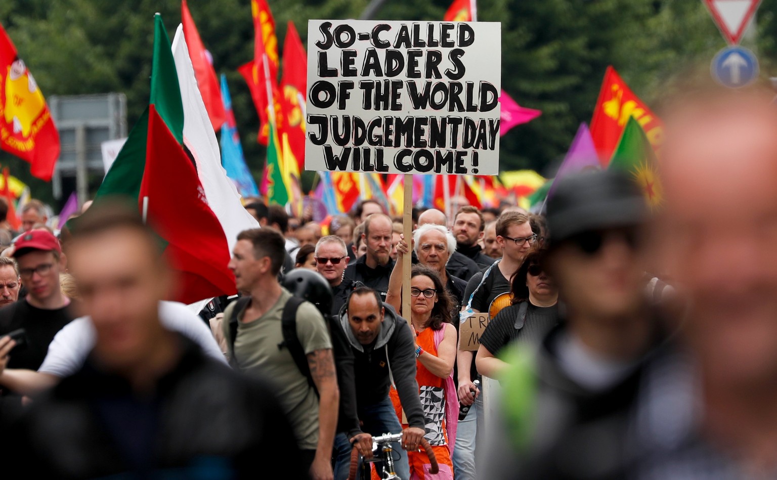
[[[521,304],[503,308],[489,322],[483,335],[480,336],[480,345],[485,346],[494,356],[498,355],[508,343],[517,340],[537,345],[559,322],[558,304],[552,307],[537,307],[530,303],[526,309],[523,327],[515,329],[515,321],[520,309]]]

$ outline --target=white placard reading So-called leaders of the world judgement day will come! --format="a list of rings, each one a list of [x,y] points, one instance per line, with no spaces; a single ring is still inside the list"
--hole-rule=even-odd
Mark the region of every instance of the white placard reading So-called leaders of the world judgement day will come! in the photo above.
[[[500,23],[308,22],[305,168],[497,175]]]

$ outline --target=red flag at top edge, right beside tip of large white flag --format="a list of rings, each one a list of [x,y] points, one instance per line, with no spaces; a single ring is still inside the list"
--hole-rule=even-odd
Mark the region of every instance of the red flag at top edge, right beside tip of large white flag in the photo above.
[[[214,130],[219,130],[227,120],[224,112],[224,103],[221,102],[221,89],[216,78],[216,71],[209,60],[207,50],[194,25],[189,5],[186,0],[181,2],[181,23],[183,23],[183,37],[186,38],[186,47],[189,48],[189,57],[192,59],[194,76],[197,78],[197,89],[205,103],[207,116],[211,119]]]

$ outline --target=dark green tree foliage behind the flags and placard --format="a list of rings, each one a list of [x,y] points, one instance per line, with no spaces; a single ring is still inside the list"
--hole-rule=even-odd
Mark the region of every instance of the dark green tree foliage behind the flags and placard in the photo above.
[[[368,0],[269,0],[279,50],[287,22],[302,40],[308,19],[359,18]],[[759,45],[777,54],[777,0],[761,6]],[[256,144],[258,118],[237,73],[253,56],[249,0],[190,0],[190,10],[216,70],[225,73],[249,167],[257,178],[264,150]],[[375,19],[441,19],[448,0],[385,2]],[[768,8],[769,6],[772,8]],[[124,92],[131,125],[148,104],[154,12],[169,33],[180,21],[179,0],[5,0],[0,23],[16,43],[47,96]],[[502,137],[500,165],[543,172],[566,152],[580,122],[589,121],[605,68],[612,64],[646,102],[689,64],[709,63],[723,47],[702,2],[688,0],[481,0],[478,19],[501,22],[502,86],[542,117]],[[494,59],[497,61],[498,59]],[[23,162],[0,155],[29,180]],[[22,173],[25,172],[25,173]],[[31,182],[35,195],[50,187]]]

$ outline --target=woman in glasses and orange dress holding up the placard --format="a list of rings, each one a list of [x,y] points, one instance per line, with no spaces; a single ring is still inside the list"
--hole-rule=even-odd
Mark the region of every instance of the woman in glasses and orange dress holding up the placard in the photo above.
[[[392,306],[396,311],[401,311],[400,297],[394,297],[397,304]],[[432,446],[440,465],[440,472],[434,478],[453,480],[451,455],[458,423],[458,396],[453,383],[453,364],[456,360],[458,335],[450,322],[455,303],[437,272],[423,265],[413,266],[410,297],[409,318],[416,335],[416,381],[427,423],[427,433],[423,437]],[[391,398],[399,421],[406,427],[402,421],[399,395],[393,388]],[[410,478],[430,478],[427,475],[429,457],[426,452],[408,452],[408,459]]]

